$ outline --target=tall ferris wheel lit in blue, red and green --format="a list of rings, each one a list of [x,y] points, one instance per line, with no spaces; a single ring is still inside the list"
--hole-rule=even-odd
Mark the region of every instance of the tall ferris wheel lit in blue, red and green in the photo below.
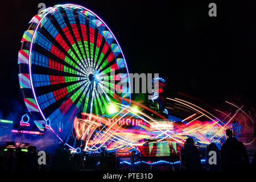
[[[18,53],[19,83],[39,129],[46,123],[71,143],[81,113],[102,115],[114,102],[130,104],[125,57],[101,18],[66,4],[48,7],[29,23]]]

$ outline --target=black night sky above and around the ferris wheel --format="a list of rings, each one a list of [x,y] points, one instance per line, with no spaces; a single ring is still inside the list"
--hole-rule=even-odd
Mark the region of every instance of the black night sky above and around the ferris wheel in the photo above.
[[[113,31],[130,73],[160,73],[164,96],[178,92],[217,106],[226,100],[254,110],[256,2],[253,1],[3,1],[0,112],[22,113],[18,51],[38,3],[77,3]],[[210,2],[217,17],[208,16]],[[18,102],[19,101],[19,102]],[[0,113],[1,114],[1,113]]]

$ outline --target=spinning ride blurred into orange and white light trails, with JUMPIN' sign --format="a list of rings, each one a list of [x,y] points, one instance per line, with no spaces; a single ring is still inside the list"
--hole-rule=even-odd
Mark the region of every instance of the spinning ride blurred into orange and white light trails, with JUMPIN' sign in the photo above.
[[[140,106],[158,114],[146,106]],[[188,137],[194,138],[200,148],[205,148],[212,142],[218,146],[225,142],[225,130],[228,128],[234,131],[235,137],[241,134],[240,123],[222,125],[218,123],[218,118],[209,121],[207,118],[210,113],[205,113],[205,117],[201,116],[204,119],[200,120],[198,113],[185,119],[154,119],[145,114],[141,107],[136,113],[132,107],[126,106],[122,114],[105,114],[101,117],[91,115],[90,120],[77,119],[77,122],[82,123],[82,127],[76,130],[77,135],[82,136],[81,129],[90,129],[84,151],[100,152],[102,148],[106,148],[108,152],[139,151],[142,156],[170,156],[179,154]]]

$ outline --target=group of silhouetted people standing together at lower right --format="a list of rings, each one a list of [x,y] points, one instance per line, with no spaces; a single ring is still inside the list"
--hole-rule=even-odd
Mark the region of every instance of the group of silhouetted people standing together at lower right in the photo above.
[[[205,154],[206,168],[209,171],[249,169],[251,167],[249,157],[243,143],[233,137],[233,132],[230,129],[226,130],[226,135],[228,139],[222,144],[221,150],[218,150],[215,143],[207,146]],[[200,152],[192,138],[187,138],[184,143],[184,148],[180,151],[180,162],[181,170],[202,170]],[[252,165],[255,166],[255,159]]]

